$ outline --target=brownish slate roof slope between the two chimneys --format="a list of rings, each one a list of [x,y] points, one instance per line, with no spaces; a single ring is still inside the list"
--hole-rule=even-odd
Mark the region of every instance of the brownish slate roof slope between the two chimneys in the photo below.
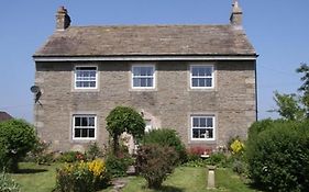
[[[69,26],[40,56],[256,55],[243,30],[225,25]]]

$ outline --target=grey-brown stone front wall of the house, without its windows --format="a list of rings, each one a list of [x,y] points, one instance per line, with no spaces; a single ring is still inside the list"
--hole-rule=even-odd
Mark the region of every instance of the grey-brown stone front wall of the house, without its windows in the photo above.
[[[106,116],[117,105],[130,105],[151,116],[156,126],[176,129],[189,146],[221,146],[230,137],[246,137],[256,120],[255,61],[212,61],[216,86],[191,90],[189,65],[195,61],[151,61],[156,66],[154,90],[131,89],[130,61],[36,63],[35,84],[43,94],[35,104],[35,126],[54,150],[82,149],[89,140],[71,139],[73,114],[97,115],[97,139],[107,144]],[[139,61],[139,64],[142,64]],[[208,64],[208,63],[205,63]],[[99,88],[74,89],[74,66],[97,65]],[[190,139],[190,115],[216,115],[216,140]]]

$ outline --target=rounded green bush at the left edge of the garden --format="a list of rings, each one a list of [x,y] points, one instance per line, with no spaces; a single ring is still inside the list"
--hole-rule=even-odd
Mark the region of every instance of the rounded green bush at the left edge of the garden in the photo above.
[[[23,120],[0,123],[0,169],[18,171],[18,163],[31,151],[37,137],[32,125]]]

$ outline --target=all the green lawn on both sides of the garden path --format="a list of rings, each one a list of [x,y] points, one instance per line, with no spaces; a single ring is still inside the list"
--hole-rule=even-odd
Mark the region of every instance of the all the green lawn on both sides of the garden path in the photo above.
[[[60,165],[37,166],[31,162],[20,163],[21,172],[11,174],[22,187],[22,192],[51,192],[55,187],[56,168]],[[130,177],[123,192],[203,192],[230,191],[255,192],[230,169],[216,170],[216,190],[207,190],[206,168],[178,167],[163,183],[161,190],[145,189],[146,181],[141,177]],[[101,192],[111,192],[112,187]]]

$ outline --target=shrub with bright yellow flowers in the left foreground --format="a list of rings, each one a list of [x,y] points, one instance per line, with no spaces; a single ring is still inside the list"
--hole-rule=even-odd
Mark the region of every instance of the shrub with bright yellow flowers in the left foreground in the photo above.
[[[57,169],[56,191],[58,192],[95,192],[106,188],[109,177],[106,163],[101,159],[90,162],[68,163]]]

